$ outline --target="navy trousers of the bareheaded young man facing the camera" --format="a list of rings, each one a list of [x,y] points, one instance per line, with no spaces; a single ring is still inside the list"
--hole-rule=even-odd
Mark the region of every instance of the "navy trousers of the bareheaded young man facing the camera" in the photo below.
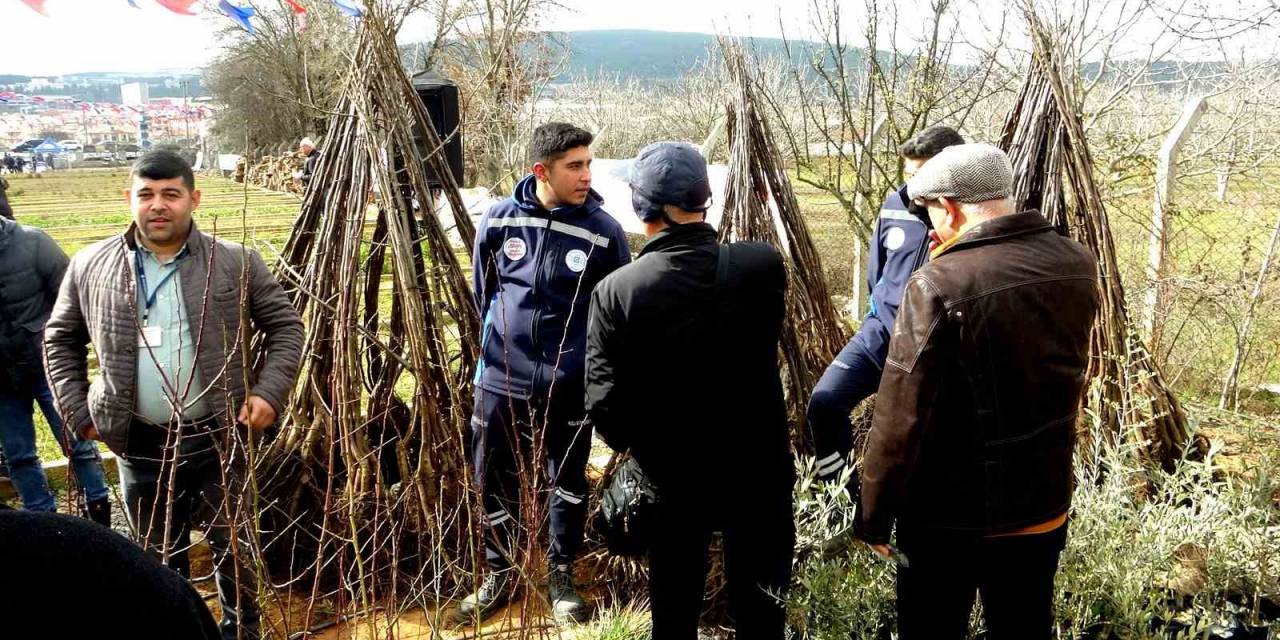
[[[521,535],[520,493],[522,474],[547,474],[547,558],[552,564],[572,564],[582,545],[586,522],[586,460],[591,430],[582,421],[582,394],[556,392],[547,399],[518,399],[476,388],[471,417],[471,462],[484,503],[485,559],[489,568],[511,566],[511,553]],[[534,433],[541,435],[541,460],[535,460]],[[531,486],[529,476],[524,485]]]

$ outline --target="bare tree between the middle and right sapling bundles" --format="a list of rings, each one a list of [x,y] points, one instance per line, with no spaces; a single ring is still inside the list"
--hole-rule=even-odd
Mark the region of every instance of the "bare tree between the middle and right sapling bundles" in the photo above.
[[[901,180],[896,142],[936,123],[963,127],[977,105],[1011,93],[1012,84],[996,55],[960,59],[965,12],[956,0],[929,0],[919,29],[901,23],[897,5],[867,0],[865,28],[856,36],[845,32],[842,3],[810,0],[809,9],[818,42],[787,42],[800,91],[794,101],[774,104],[774,115],[799,179],[835,197],[855,233],[865,236],[879,198]]]

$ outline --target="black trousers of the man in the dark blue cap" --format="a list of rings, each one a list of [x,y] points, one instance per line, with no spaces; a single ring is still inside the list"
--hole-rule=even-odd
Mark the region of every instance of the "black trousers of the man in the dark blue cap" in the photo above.
[[[649,550],[649,603],[653,640],[695,640],[707,584],[707,554],[713,531],[724,541],[728,609],[739,640],[781,640],[786,632],[782,603],[791,584],[795,522],[791,484],[773,495],[756,494],[736,504],[671,503],[663,489],[662,530]],[[684,500],[681,500],[684,502]],[[721,515],[709,515],[721,511]]]

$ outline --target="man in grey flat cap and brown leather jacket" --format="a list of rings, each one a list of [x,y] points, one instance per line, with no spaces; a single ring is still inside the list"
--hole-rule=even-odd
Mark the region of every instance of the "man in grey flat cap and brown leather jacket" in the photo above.
[[[893,326],[855,529],[890,556],[897,524],[902,640],[966,637],[975,594],[991,640],[1048,639],[1097,262],[1015,210],[989,145],[947,147],[908,192],[931,260]]]

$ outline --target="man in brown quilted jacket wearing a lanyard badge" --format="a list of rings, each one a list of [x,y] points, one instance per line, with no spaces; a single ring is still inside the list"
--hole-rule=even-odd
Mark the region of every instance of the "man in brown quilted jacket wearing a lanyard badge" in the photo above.
[[[248,545],[232,544],[252,526],[243,447],[288,403],[302,320],[255,251],[196,229],[200,191],[186,160],[148,152],[131,180],[133,223],[67,270],[45,329],[49,381],[73,433],[119,456],[125,511],[145,548],[187,575],[191,530],[202,527],[223,636],[257,637]],[[248,326],[264,334],[261,360],[246,352]]]

